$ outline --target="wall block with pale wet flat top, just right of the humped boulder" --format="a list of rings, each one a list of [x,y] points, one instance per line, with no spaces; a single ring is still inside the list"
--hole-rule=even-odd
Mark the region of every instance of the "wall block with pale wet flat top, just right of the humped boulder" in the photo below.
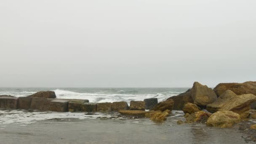
[[[49,110],[54,112],[67,112],[68,102],[65,100],[56,99],[50,102]]]

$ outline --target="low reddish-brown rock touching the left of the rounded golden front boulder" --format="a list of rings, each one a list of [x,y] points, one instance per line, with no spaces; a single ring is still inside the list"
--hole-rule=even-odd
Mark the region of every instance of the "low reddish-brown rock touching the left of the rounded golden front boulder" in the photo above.
[[[205,123],[210,116],[211,114],[208,112],[199,111],[199,112],[194,112],[191,115],[188,115],[186,117],[186,120],[187,120],[187,123],[193,123],[193,122]]]

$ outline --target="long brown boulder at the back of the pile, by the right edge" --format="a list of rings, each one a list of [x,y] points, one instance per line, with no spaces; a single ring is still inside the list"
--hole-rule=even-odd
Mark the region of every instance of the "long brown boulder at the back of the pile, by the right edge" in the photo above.
[[[237,95],[253,94],[256,96],[256,82],[248,81],[245,83],[220,83],[213,89],[218,97],[227,90],[231,90]]]

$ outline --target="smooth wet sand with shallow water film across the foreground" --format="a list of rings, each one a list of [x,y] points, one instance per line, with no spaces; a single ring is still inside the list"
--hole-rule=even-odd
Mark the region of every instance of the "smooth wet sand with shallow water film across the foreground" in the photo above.
[[[114,116],[96,119],[57,118],[34,123],[0,124],[2,144],[244,144],[245,129],[211,128],[203,123],[177,125],[182,112],[165,123],[147,118]],[[91,114],[88,114],[91,115]],[[253,122],[254,123],[254,122]]]

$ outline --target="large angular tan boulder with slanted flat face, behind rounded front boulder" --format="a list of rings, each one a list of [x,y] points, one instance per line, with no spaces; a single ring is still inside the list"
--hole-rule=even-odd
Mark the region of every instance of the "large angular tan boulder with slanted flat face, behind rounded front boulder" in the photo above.
[[[256,96],[253,94],[243,94],[237,96],[233,91],[225,91],[212,104],[208,104],[206,109],[209,112],[217,111],[232,111],[240,114],[242,118],[248,117],[251,104],[256,101]]]

